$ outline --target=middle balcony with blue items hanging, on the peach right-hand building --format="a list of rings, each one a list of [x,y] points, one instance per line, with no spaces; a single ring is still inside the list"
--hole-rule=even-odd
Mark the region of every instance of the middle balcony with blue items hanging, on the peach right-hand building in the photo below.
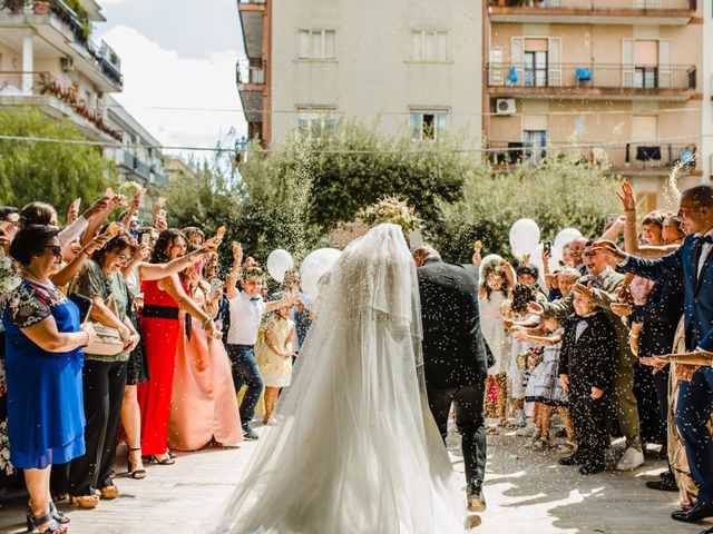
[[[695,95],[695,66],[549,63],[488,65],[492,97],[685,101]]]

